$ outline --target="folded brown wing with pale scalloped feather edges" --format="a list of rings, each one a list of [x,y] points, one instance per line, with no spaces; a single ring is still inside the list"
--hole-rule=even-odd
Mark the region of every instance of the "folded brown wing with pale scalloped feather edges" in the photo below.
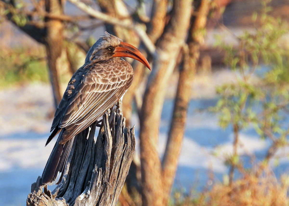
[[[83,73],[81,79],[76,75],[75,82],[68,84],[65,93],[71,96],[65,106],[59,106],[57,119],[53,121],[55,126],[66,129],[61,143],[84,130],[121,98],[133,78],[132,70],[126,67],[131,65],[125,61],[90,63],[84,72],[79,72]]]

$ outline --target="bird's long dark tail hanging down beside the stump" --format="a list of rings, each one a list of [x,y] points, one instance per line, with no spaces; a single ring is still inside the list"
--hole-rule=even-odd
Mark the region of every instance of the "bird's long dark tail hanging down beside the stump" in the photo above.
[[[64,129],[62,129],[62,131],[60,132],[58,140],[61,139],[63,132]],[[56,141],[42,173],[42,185],[53,184],[55,183],[55,180],[58,180],[58,177],[59,180],[56,182],[56,184],[61,182],[73,140],[74,137],[68,140],[63,145],[59,144],[59,141]]]

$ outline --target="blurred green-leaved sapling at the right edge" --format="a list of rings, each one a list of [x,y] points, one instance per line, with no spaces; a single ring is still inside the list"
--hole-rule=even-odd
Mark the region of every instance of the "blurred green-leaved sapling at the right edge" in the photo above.
[[[277,149],[288,145],[289,128],[284,119],[288,115],[289,103],[289,52],[281,41],[288,32],[288,24],[268,15],[271,10],[264,1],[261,14],[252,16],[256,29],[236,37],[236,48],[223,42],[216,43],[225,50],[224,62],[235,71],[238,80],[236,84],[217,88],[220,99],[211,108],[219,113],[220,126],[232,125],[234,132],[234,151],[226,160],[231,167],[229,184],[233,181],[234,168],[243,167],[237,151],[241,130],[253,126],[260,138],[271,140],[260,171],[255,171],[257,176]]]

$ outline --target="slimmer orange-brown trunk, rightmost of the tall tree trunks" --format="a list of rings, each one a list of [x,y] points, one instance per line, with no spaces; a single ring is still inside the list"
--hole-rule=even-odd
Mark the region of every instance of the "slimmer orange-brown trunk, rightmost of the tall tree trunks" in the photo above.
[[[173,117],[162,161],[164,194],[167,195],[167,200],[170,197],[184,138],[192,81],[197,70],[200,44],[204,38],[203,32],[201,31],[205,28],[209,11],[209,0],[199,0],[197,2],[199,3],[196,7],[197,16],[191,20],[189,30],[188,44],[190,46],[184,47],[184,63],[179,73]]]

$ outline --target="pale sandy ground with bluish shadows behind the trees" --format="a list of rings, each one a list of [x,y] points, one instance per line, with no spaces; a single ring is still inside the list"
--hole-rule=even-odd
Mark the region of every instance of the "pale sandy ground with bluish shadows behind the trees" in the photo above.
[[[223,175],[227,174],[223,157],[232,151],[232,130],[219,128],[218,117],[204,109],[216,103],[216,85],[235,79],[228,70],[196,78],[175,180],[176,189],[201,191],[212,184],[208,179],[210,171],[215,181],[222,181]],[[54,145],[50,143],[44,147],[53,117],[51,88],[40,83],[29,84],[0,90],[0,96],[0,205],[26,205],[31,184],[42,174]],[[162,112],[160,154],[164,151],[172,108],[173,101],[168,98]],[[138,134],[136,116],[132,122],[136,122]],[[244,161],[247,166],[250,164],[248,155],[260,159],[269,145],[269,142],[260,140],[253,129],[242,132],[240,141],[244,145],[240,153],[246,154]],[[138,152],[139,148],[136,150]],[[279,151],[278,155],[286,155],[287,150]],[[213,155],[215,151],[218,156]],[[277,176],[288,172],[289,168],[286,157],[278,161],[277,166],[272,162]]]

